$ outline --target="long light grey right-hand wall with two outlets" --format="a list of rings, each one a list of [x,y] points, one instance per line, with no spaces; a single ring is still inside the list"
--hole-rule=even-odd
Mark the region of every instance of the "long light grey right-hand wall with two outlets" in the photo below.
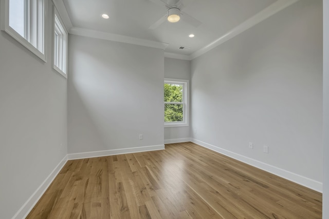
[[[322,189],[322,1],[301,0],[194,59],[191,80],[194,139]]]

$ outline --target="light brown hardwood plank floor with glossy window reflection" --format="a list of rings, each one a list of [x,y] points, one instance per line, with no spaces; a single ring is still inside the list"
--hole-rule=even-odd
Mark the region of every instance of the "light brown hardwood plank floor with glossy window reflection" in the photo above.
[[[193,143],[68,161],[27,218],[321,218],[322,195]]]

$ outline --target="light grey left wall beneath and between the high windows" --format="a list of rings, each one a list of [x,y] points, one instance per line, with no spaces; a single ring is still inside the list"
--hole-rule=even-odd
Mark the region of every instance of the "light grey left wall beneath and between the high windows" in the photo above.
[[[52,69],[51,2],[48,15],[47,63],[0,32],[0,218],[13,217],[67,154],[67,83]]]

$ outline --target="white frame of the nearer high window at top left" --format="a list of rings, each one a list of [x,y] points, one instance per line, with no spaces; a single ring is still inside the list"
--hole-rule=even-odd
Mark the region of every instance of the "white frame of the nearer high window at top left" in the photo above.
[[[9,26],[9,1],[1,1],[1,30],[5,31],[28,50],[47,62],[47,0],[25,0],[26,21],[24,37]],[[36,26],[34,24],[37,24]]]

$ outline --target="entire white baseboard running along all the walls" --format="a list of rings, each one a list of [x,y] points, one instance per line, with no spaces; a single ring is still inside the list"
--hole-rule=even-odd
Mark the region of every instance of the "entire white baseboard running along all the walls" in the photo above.
[[[298,183],[307,188],[313,189],[318,192],[322,192],[322,183],[312,180],[310,178],[298,175],[293,172],[289,172],[287,170],[265,164],[263,162],[254,160],[252,158],[243,156],[241,154],[237,154],[223,148],[210,145],[208,143],[196,140],[194,138],[177,138],[172,140],[165,140],[165,144],[170,143],[181,143],[181,142],[193,142],[202,147],[208,148],[210,150],[216,151],[218,153],[224,154],[226,156],[232,157],[235,160],[241,161],[243,163],[249,164],[251,166],[257,167],[259,169],[265,170],[272,174],[281,176],[286,178],[289,181]],[[63,160],[54,168],[54,170],[48,175],[46,180],[35,190],[35,192],[30,196],[30,198],[24,203],[24,205],[16,212],[16,214],[12,217],[12,219],[16,218],[25,218],[28,213],[32,210],[34,205],[39,201],[41,196],[50,186],[54,178],[58,175],[60,170],[63,168],[67,160],[76,160],[81,158],[89,158],[89,157],[98,157],[98,156],[109,156],[109,155],[117,155],[117,154],[125,154],[125,153],[136,153],[136,152],[144,152],[144,151],[155,151],[155,150],[164,150],[165,145],[155,145],[155,146],[145,146],[145,147],[137,147],[137,148],[124,148],[124,149],[113,149],[113,150],[105,150],[105,151],[93,151],[93,152],[85,152],[85,153],[71,153],[67,154]]]

